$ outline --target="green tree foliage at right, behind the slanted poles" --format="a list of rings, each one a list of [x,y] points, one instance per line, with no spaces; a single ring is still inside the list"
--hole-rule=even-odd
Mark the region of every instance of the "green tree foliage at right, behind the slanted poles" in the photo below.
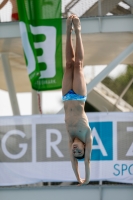
[[[125,74],[120,75],[116,79],[111,79],[109,77],[106,77],[102,81],[102,83],[117,95],[121,95],[121,93],[123,92],[123,90],[131,81],[132,78],[133,78],[133,65],[128,65]],[[131,106],[133,106],[133,83],[126,92],[126,94],[123,96],[123,99]]]

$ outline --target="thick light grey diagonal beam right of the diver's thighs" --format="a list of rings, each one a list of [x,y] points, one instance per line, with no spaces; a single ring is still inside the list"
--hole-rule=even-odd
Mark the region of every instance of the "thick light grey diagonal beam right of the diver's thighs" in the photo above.
[[[122,53],[120,53],[102,72],[100,72],[89,84],[87,84],[88,93],[101,82],[119,63],[125,60],[133,52],[133,43],[130,44]]]

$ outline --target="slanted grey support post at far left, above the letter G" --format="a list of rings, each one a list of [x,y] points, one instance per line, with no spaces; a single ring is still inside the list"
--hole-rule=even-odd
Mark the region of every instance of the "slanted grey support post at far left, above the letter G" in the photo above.
[[[5,74],[6,84],[9,92],[10,102],[12,106],[13,115],[20,115],[16,91],[13,83],[12,72],[8,57],[6,54],[1,54],[3,71]]]

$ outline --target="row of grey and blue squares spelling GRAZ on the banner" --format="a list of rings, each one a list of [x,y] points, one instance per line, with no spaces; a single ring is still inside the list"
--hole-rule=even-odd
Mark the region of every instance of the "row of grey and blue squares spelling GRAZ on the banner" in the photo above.
[[[91,122],[90,126],[93,136],[91,160],[113,160],[113,123]],[[118,122],[117,127],[117,158],[130,160],[133,157],[131,124]],[[70,161],[65,124],[36,124],[34,131],[31,124],[9,125],[6,129],[1,126],[0,128],[3,134],[0,146],[1,162]],[[126,132],[122,134],[122,130]],[[130,140],[123,146],[122,141],[127,134]],[[123,140],[121,140],[122,137]]]

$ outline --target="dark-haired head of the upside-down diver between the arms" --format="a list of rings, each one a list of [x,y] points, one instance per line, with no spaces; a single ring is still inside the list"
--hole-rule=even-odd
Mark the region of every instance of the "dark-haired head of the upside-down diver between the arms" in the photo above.
[[[78,138],[75,138],[72,144],[72,152],[75,158],[83,159],[85,156],[85,144]]]

